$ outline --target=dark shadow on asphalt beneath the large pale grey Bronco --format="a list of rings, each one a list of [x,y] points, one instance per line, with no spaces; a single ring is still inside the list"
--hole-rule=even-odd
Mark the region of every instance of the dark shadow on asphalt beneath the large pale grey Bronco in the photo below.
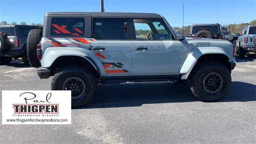
[[[93,101],[84,108],[114,108],[173,102],[198,101],[188,84],[112,84],[98,86]],[[256,85],[232,82],[228,94],[218,102],[256,101]],[[81,109],[81,108],[79,108]]]

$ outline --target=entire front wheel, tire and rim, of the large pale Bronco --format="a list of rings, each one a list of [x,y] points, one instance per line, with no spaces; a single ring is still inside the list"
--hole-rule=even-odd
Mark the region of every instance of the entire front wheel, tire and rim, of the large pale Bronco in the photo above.
[[[200,101],[211,102],[223,98],[230,89],[229,70],[218,62],[198,64],[191,72],[188,84]]]

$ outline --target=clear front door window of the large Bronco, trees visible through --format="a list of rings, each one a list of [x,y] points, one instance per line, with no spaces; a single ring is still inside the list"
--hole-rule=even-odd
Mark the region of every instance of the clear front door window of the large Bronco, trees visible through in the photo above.
[[[134,19],[134,32],[136,40],[170,40],[162,20]]]

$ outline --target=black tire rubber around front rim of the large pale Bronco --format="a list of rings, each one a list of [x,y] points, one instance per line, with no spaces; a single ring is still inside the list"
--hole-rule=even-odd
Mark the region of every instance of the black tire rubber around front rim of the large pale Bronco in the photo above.
[[[222,76],[223,79],[223,85],[216,93],[208,93],[203,88],[203,79],[210,72],[217,72],[218,74],[220,74],[220,76]],[[198,100],[203,102],[220,100],[228,93],[228,90],[230,89],[230,71],[226,68],[226,66],[218,62],[203,62],[202,64],[198,64],[195,68],[193,68],[188,78],[188,84],[192,93],[194,94],[194,96],[196,96],[196,98],[198,98]]]

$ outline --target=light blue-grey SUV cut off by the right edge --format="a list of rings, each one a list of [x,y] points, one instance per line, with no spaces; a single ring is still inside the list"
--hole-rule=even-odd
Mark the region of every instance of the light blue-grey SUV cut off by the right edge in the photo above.
[[[256,25],[245,26],[236,42],[236,54],[245,58],[249,52],[256,52]]]

